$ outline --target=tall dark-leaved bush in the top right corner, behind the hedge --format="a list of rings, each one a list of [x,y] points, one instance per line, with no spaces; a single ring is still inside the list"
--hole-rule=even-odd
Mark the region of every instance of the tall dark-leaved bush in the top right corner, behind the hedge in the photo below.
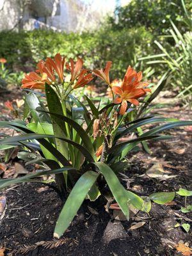
[[[191,10],[191,1],[185,1],[186,10]],[[145,26],[154,35],[162,35],[170,28],[172,19],[179,29],[186,31],[188,17],[180,0],[132,0],[127,6],[116,8],[116,17],[109,18],[115,30]],[[179,22],[182,20],[182,22]]]

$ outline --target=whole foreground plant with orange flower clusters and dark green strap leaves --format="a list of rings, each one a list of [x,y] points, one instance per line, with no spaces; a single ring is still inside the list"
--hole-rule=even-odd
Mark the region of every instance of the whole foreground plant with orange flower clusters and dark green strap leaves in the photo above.
[[[44,170],[17,179],[2,179],[0,188],[30,181],[49,184],[53,180],[37,177],[54,174],[56,189],[66,200],[56,222],[54,237],[61,237],[67,230],[84,199],[95,201],[101,195],[109,195],[115,200],[111,209],[118,207],[129,220],[130,207],[149,212],[150,200],[166,204],[175,197],[175,191],[159,191],[143,199],[122,186],[118,172],[122,172],[127,164],[127,153],[139,143],[148,150],[147,140],[170,139],[172,136],[162,132],[192,125],[192,122],[148,115],[145,110],[158,94],[161,84],[160,89],[158,87],[137,109],[138,100],[151,93],[150,84],[142,81],[142,72],[136,72],[130,66],[122,81],[111,83],[110,67],[111,61],[108,61],[105,68],[88,70],[83,68],[81,58],[75,62],[71,58],[65,60],[60,54],[42,60],[36,72],[26,74],[22,79],[22,88],[28,92],[23,120],[0,122],[1,127],[20,133],[17,136],[1,134],[4,136],[0,140],[1,148],[20,147],[22,159],[27,155],[29,161],[31,154],[31,163],[44,166]],[[82,102],[74,92],[93,82],[94,77],[108,85],[109,99],[99,97],[95,102],[84,95]],[[45,90],[45,93],[33,92],[34,89]],[[141,129],[143,125],[160,123],[165,124],[146,132]],[[122,142],[126,134],[132,134],[132,139]]]

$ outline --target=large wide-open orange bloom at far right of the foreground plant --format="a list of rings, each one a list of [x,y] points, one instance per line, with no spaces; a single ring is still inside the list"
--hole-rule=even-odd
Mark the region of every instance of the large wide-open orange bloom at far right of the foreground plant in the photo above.
[[[113,86],[113,92],[118,95],[113,101],[116,104],[121,104],[120,115],[124,115],[127,110],[127,101],[138,106],[140,102],[138,98],[145,95],[147,92],[151,92],[147,82],[141,82],[142,72],[136,72],[130,66],[127,68],[127,72],[124,77],[124,81],[121,86]]]

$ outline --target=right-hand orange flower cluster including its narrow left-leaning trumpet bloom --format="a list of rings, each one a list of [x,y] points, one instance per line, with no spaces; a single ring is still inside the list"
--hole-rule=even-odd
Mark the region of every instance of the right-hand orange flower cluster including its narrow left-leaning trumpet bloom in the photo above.
[[[121,104],[120,115],[124,115],[127,110],[127,101],[138,106],[140,102],[138,98],[144,96],[147,92],[151,92],[147,88],[147,82],[141,82],[142,72],[136,72],[130,66],[127,68],[127,72],[124,76],[122,83],[115,84],[109,82],[109,68],[111,67],[111,61],[108,61],[104,70],[94,71],[94,74],[109,84],[116,98],[113,101],[115,104]],[[117,83],[117,82],[116,82]]]

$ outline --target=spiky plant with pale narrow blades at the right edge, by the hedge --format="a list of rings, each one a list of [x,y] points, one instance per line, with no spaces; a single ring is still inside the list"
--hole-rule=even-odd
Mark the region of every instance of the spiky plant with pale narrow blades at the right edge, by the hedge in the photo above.
[[[156,70],[161,70],[161,74],[165,67],[170,70],[170,85],[173,88],[179,88],[177,97],[189,101],[192,93],[192,33],[188,31],[182,35],[172,21],[171,24],[170,34],[174,40],[174,47],[168,44],[166,38],[161,43],[155,40],[161,54],[147,56],[140,60],[154,59],[147,61],[147,64],[156,65]]]

